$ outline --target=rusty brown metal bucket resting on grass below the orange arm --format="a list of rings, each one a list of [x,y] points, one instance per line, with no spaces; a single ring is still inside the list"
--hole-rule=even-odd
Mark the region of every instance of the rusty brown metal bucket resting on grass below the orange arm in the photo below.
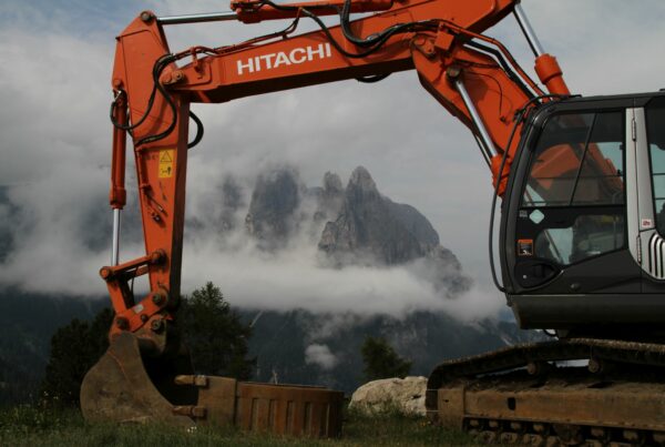
[[[81,386],[88,420],[235,425],[275,434],[337,437],[344,394],[321,387],[193,375],[190,357],[150,358],[140,339],[115,337]]]

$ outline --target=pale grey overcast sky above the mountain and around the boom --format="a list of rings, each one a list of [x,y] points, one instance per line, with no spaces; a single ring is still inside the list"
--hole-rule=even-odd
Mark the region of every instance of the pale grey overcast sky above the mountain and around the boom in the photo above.
[[[665,88],[664,1],[524,0],[522,4],[543,47],[557,57],[574,93]],[[11,186],[10,197],[21,205],[22,217],[12,221],[10,211],[0,207],[0,227],[12,222],[11,230],[19,235],[16,252],[0,270],[0,284],[41,292],[105,293],[96,271],[108,263],[108,250],[91,251],[89,245],[90,238],[102,246],[111,238],[100,222],[111,219],[105,197],[114,35],[143,9],[167,16],[225,8],[226,3],[217,0],[2,1],[0,185]],[[170,28],[167,37],[172,51],[177,51],[192,44],[229,44],[282,26],[183,26]],[[532,71],[532,57],[512,18],[487,33],[507,43]],[[204,121],[206,136],[191,155],[191,212],[206,205],[197,197],[209,196],[208,185],[229,174],[253,179],[266,166],[290,163],[299,167],[308,185],[316,185],[326,171],[337,172],[346,182],[354,167],[364,165],[383,194],[416,206],[432,222],[442,245],[458,255],[484,291],[479,296],[485,301],[469,298],[469,307],[478,308],[489,299],[493,304],[485,307],[492,313],[502,305],[500,294],[489,286],[490,173],[467,129],[422,90],[415,72],[372,85],[346,81],[221,105],[195,105],[194,110]],[[248,122],[262,123],[260,129]],[[90,210],[99,210],[92,220]],[[129,258],[141,253],[129,247],[123,255]],[[247,256],[244,262],[252,264]],[[250,277],[238,276],[237,264],[228,261],[233,260],[218,253],[186,248],[185,292],[213,280],[233,291],[227,292],[229,296],[245,293],[241,283]],[[299,262],[290,266],[295,268]],[[239,270],[249,270],[249,264]],[[272,265],[275,277],[288,275],[269,260],[260,265]],[[284,265],[289,264],[282,268]],[[219,273],[224,267],[234,274],[224,276]],[[367,301],[365,306],[378,308],[390,291],[388,301],[418,293],[418,285],[396,289],[397,283],[405,284],[399,275],[389,272],[368,283],[360,280],[368,275],[359,273],[352,276],[358,284],[345,280],[349,291],[336,292],[351,297],[351,285],[369,287],[376,301]],[[284,305],[297,305],[313,289],[337,281],[309,275],[301,293],[294,292],[296,285],[284,289],[294,294]],[[254,284],[256,289],[246,293],[258,296],[269,293],[272,286],[269,282]],[[341,299],[328,295],[320,299],[327,298]],[[420,304],[430,305],[430,298]],[[395,304],[395,309],[403,308]]]

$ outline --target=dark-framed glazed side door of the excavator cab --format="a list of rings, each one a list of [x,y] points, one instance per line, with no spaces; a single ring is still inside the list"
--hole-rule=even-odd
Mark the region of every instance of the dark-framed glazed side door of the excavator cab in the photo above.
[[[633,116],[626,106],[604,105],[557,106],[523,149],[511,193],[514,233],[505,233],[507,246],[514,244],[507,250],[513,293],[641,291],[626,212],[635,189],[635,175],[626,175],[634,169]]]

